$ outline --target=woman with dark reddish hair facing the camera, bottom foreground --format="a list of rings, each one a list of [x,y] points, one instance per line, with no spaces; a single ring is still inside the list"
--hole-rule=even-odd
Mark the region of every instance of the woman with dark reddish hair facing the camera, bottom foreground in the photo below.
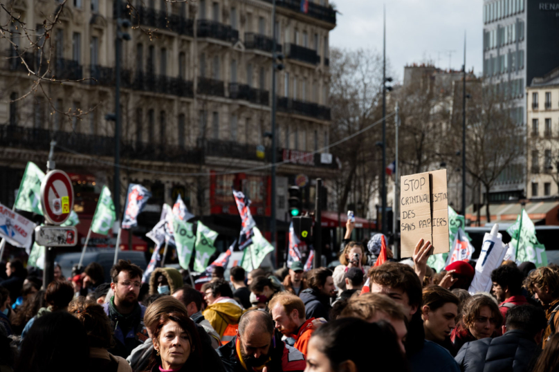
[[[203,371],[202,344],[196,324],[185,313],[162,314],[154,332],[148,371]]]

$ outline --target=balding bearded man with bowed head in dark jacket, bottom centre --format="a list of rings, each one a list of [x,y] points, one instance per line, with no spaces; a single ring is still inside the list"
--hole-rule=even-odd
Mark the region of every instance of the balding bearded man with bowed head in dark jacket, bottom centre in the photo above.
[[[239,320],[237,336],[217,349],[226,372],[302,372],[304,356],[274,333],[274,322],[262,310],[250,310]]]

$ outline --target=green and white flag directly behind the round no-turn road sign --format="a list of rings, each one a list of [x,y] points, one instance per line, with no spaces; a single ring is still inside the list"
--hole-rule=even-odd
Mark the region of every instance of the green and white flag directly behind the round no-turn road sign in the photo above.
[[[15,198],[14,209],[43,215],[41,207],[41,181],[45,174],[34,162],[28,162],[24,178]]]

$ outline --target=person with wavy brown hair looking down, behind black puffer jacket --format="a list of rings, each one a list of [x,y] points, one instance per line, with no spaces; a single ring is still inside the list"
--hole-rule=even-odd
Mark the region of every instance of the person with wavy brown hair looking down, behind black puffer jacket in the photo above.
[[[450,340],[459,351],[466,342],[498,335],[503,316],[492,297],[478,294],[470,298],[462,309],[462,319],[450,334]]]

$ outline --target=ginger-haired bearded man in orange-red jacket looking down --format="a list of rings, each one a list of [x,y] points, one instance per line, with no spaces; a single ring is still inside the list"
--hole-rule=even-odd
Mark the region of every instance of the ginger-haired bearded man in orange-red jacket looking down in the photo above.
[[[315,318],[305,319],[302,299],[291,293],[283,292],[275,295],[268,307],[277,331],[284,336],[293,337],[295,339],[293,347],[306,356],[306,348],[315,331],[315,326],[313,326]]]

